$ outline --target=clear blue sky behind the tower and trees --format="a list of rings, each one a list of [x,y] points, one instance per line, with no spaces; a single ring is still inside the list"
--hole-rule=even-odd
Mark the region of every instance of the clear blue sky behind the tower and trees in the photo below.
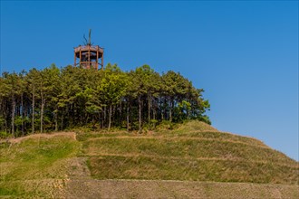
[[[297,1],[1,1],[1,71],[72,64],[90,28],[105,63],[179,71],[214,127],[299,159]]]

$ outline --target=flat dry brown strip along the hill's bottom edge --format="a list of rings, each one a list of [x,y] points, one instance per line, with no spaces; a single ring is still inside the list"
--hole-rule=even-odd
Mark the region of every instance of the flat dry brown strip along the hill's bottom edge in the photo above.
[[[298,185],[262,185],[163,180],[73,180],[68,198],[298,198]]]

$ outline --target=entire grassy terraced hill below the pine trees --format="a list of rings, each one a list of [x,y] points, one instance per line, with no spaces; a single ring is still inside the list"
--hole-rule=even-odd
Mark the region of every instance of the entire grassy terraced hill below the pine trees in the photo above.
[[[298,162],[197,121],[144,134],[37,134],[0,146],[2,196],[299,196]]]

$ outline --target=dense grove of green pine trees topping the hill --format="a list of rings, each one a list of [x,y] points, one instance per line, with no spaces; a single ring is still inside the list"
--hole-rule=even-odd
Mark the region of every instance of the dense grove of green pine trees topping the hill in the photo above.
[[[163,120],[210,124],[203,92],[178,72],[160,75],[149,65],[128,72],[110,63],[104,71],[52,64],[41,71],[4,72],[0,131],[16,137],[82,126],[141,131]]]

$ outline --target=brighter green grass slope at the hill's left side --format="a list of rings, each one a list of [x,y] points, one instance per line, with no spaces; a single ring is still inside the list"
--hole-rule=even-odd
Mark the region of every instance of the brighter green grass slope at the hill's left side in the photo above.
[[[74,134],[33,135],[0,143],[0,198],[60,197],[68,159],[79,149]]]

